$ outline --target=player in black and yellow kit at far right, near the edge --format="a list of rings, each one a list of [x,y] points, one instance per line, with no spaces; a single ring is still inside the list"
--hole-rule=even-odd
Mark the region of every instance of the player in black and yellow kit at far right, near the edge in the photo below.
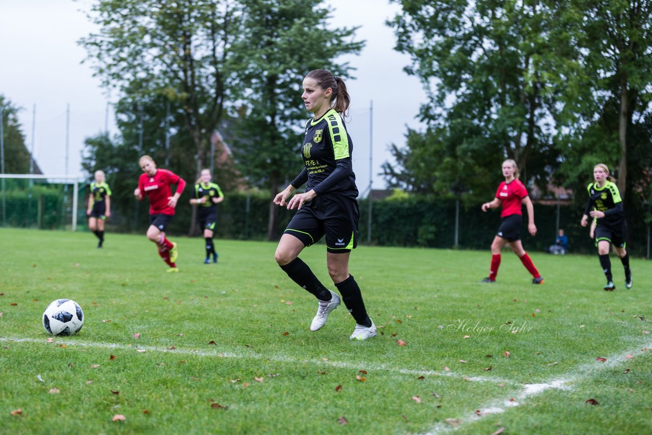
[[[589,223],[589,215],[595,219],[595,245],[598,247],[600,265],[607,278],[604,290],[615,290],[609,260],[609,246],[613,243],[615,253],[620,257],[625,269],[625,288],[632,288],[632,270],[629,268],[629,254],[625,250],[625,235],[627,223],[623,210],[623,199],[620,197],[615,179],[609,176],[606,164],[599,163],[593,167],[595,183],[589,183],[589,201],[582,216],[582,226]]]

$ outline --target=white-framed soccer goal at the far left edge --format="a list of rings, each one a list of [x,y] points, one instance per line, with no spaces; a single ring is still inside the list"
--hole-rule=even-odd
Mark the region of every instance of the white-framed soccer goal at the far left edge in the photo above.
[[[0,173],[0,184],[1,226],[77,230],[80,177]]]

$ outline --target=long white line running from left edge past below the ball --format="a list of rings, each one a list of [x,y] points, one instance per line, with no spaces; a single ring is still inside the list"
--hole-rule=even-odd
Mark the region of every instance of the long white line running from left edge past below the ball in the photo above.
[[[133,350],[133,351],[146,351],[146,352],[160,352],[160,353],[176,353],[178,355],[196,355],[200,357],[220,357],[220,358],[233,358],[233,359],[269,359],[271,361],[278,361],[280,363],[301,363],[301,364],[315,364],[323,365],[330,367],[338,368],[353,368],[355,370],[374,370],[374,371],[391,371],[398,372],[400,374],[411,374],[417,376],[444,376],[449,378],[459,378],[472,382],[495,382],[495,383],[505,383],[518,385],[517,382],[511,379],[501,379],[501,378],[491,378],[488,376],[464,376],[455,372],[437,372],[436,370],[411,370],[407,368],[396,368],[391,367],[385,364],[369,364],[369,363],[351,363],[348,361],[333,361],[327,359],[312,359],[312,360],[300,360],[291,357],[285,357],[282,355],[263,355],[261,353],[240,353],[240,352],[219,352],[215,351],[205,351],[205,350],[189,350],[189,349],[167,349],[167,348],[157,348],[155,346],[138,346],[134,345],[125,345],[125,344],[116,344],[116,343],[98,343],[98,342],[82,342],[78,340],[65,340],[61,338],[53,338],[53,342],[50,343],[44,339],[40,338],[12,338],[12,337],[0,337],[0,342],[18,342],[18,343],[39,343],[39,344],[65,344],[66,346],[80,346],[86,348],[98,348],[98,349],[119,349],[119,350]]]

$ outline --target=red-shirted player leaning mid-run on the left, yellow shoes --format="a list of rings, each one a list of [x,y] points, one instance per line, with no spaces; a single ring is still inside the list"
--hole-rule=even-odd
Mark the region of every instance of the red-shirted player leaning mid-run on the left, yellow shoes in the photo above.
[[[143,174],[138,178],[138,188],[134,190],[134,196],[139,201],[143,195],[149,196],[149,228],[147,228],[147,239],[156,243],[158,255],[170,266],[168,272],[178,272],[177,268],[177,244],[172,243],[165,237],[165,229],[174,216],[174,207],[177,206],[179,196],[186,187],[186,182],[179,175],[166,169],[157,169],[156,163],[149,156],[143,156],[139,160]],[[172,194],[171,185],[177,185],[177,191]]]

